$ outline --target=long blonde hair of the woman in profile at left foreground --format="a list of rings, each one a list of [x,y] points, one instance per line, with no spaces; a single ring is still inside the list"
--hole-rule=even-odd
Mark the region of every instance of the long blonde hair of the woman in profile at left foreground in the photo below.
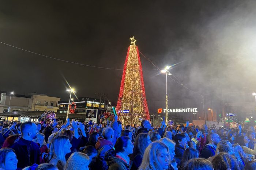
[[[63,148],[67,140],[67,136],[57,136],[56,138],[53,139],[50,145],[48,161],[55,157],[60,162],[62,167],[66,165],[66,159],[65,154],[63,152]]]

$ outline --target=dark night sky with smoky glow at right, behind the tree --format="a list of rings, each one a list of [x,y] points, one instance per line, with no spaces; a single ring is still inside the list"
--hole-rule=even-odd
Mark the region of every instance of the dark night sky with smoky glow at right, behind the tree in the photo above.
[[[256,1],[1,1],[0,42],[85,65],[123,69],[130,37],[170,72],[170,98],[256,90]],[[165,75],[142,54],[148,101],[165,98]],[[0,43],[0,90],[67,100],[107,93],[117,102],[122,70],[76,65]],[[199,96],[200,97],[200,96]]]

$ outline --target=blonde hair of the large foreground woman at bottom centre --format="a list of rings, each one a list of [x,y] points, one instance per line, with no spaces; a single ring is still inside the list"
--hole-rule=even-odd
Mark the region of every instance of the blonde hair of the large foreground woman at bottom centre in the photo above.
[[[139,170],[161,169],[161,165],[157,159],[157,154],[163,149],[166,149],[167,152],[169,153],[169,148],[162,142],[155,141],[150,143],[144,152],[142,163],[138,169]]]

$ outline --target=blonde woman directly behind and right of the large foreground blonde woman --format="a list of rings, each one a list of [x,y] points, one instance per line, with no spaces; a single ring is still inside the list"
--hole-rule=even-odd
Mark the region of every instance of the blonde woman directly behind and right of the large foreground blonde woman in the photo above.
[[[164,143],[169,148],[169,170],[177,170],[177,163],[176,159],[174,159],[175,156],[175,145],[176,143],[168,138],[161,138],[160,142]]]

